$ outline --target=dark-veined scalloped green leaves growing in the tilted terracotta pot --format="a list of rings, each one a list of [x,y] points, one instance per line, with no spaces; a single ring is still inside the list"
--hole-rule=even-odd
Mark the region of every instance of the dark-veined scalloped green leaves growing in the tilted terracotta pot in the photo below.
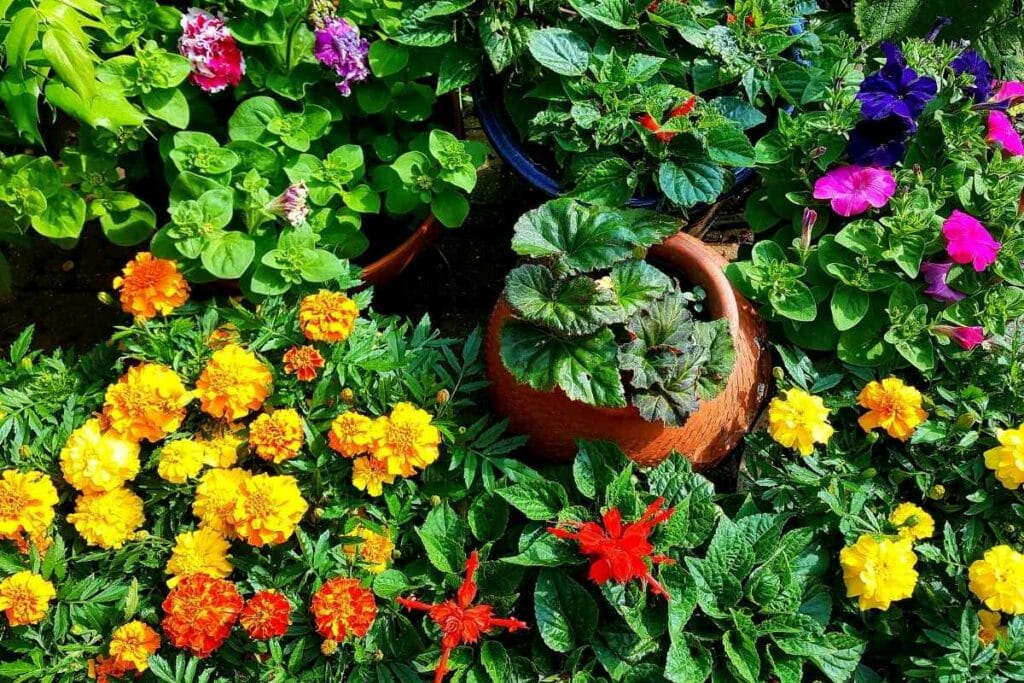
[[[520,382],[680,425],[732,372],[726,321],[701,322],[691,295],[639,256],[677,230],[652,212],[555,200],[524,214],[512,247],[502,359]],[[638,253],[639,252],[639,253]]]

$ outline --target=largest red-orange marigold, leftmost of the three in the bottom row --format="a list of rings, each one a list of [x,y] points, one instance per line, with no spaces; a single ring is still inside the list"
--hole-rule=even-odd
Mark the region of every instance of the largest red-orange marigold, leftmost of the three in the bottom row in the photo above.
[[[227,640],[242,611],[242,596],[231,582],[198,573],[182,579],[162,607],[171,644],[202,658]]]

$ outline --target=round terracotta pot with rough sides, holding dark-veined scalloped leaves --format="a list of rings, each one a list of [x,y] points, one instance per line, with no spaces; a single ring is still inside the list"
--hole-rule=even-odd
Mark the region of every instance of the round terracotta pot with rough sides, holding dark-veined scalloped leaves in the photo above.
[[[735,447],[750,429],[768,395],[771,359],[764,323],[754,307],[729,284],[726,260],[699,240],[679,233],[650,250],[650,259],[669,274],[678,274],[708,292],[713,317],[729,321],[736,361],[725,390],[701,401],[681,427],[647,422],[635,408],[594,408],[572,400],[560,389],[538,391],[516,382],[500,355],[501,330],[512,316],[501,300],[487,324],[486,365],[496,410],[509,418],[513,432],[529,437],[538,458],[568,461],[575,439],[614,441],[637,464],[657,465],[678,451],[695,469],[708,469]]]

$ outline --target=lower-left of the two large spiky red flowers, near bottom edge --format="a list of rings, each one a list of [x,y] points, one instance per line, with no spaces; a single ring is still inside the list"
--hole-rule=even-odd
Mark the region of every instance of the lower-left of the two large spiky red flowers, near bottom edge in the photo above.
[[[518,631],[527,628],[525,622],[516,618],[496,618],[490,605],[474,605],[476,583],[473,574],[480,566],[476,551],[466,561],[466,579],[459,587],[455,600],[445,600],[440,604],[430,605],[415,598],[397,598],[395,601],[407,609],[419,609],[430,615],[430,618],[441,630],[441,657],[434,670],[434,683],[440,683],[447,673],[449,656],[452,650],[460,645],[475,643],[480,636],[495,629]]]

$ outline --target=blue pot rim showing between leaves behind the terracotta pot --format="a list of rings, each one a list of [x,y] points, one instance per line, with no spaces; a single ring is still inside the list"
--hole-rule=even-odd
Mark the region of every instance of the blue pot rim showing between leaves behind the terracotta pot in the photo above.
[[[794,35],[802,34],[804,32],[804,18],[798,18],[790,32]],[[799,49],[794,49],[793,52],[795,61],[807,63],[807,60],[800,56]],[[514,169],[521,178],[548,197],[561,197],[563,191],[558,180],[549,175],[540,164],[530,158],[519,140],[515,126],[505,111],[501,85],[498,78],[487,75],[480,76],[473,83],[473,103],[483,133],[502,161]],[[782,108],[782,111],[792,114],[794,106],[787,104]],[[754,179],[756,174],[757,171],[753,168],[735,169],[732,174],[732,184],[718,196],[718,201],[721,202],[738,195]],[[634,197],[627,203],[627,206],[634,209],[657,209],[662,200],[660,197]],[[707,213],[710,208],[707,204],[697,204],[687,209],[686,214],[690,218],[697,218]]]

